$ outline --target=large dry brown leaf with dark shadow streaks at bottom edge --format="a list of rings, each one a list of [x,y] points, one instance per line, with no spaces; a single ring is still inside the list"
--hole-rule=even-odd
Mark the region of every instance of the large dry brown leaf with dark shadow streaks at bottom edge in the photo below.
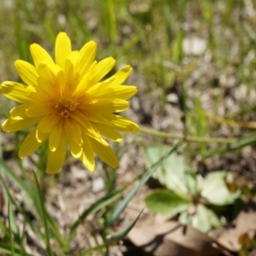
[[[154,256],[215,256],[220,253],[210,237],[175,221],[136,226],[128,237],[137,247]]]

